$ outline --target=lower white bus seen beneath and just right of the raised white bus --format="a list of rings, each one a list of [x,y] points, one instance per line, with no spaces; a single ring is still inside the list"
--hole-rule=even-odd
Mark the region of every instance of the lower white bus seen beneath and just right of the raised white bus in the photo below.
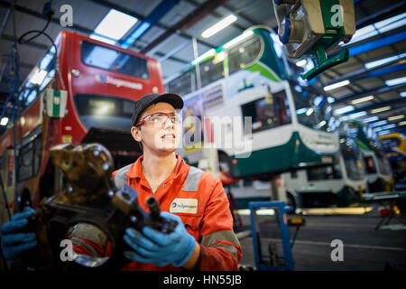
[[[351,136],[340,138],[337,162],[283,172],[281,179],[287,191],[287,203],[297,212],[357,205],[363,193],[368,192],[363,154]],[[238,208],[246,209],[250,201],[269,200],[271,184],[242,180],[233,183],[231,191]]]

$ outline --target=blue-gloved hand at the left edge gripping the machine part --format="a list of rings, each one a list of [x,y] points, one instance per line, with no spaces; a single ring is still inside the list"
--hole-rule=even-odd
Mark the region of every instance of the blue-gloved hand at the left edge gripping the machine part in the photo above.
[[[2,251],[8,262],[15,262],[23,251],[37,245],[35,233],[23,232],[33,212],[34,210],[26,207],[2,226]]]

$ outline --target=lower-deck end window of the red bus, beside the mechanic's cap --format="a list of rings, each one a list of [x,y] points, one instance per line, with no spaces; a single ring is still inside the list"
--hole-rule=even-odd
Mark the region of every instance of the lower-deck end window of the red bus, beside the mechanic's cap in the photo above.
[[[130,131],[134,101],[95,95],[76,95],[78,116],[87,129],[91,127]]]

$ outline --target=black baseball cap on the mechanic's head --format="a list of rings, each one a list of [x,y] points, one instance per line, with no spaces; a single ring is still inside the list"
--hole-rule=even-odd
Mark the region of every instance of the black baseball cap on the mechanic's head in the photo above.
[[[142,98],[135,101],[134,114],[133,114],[133,126],[139,122],[139,118],[143,114],[143,111],[150,107],[152,104],[158,102],[167,102],[175,109],[183,108],[183,99],[179,95],[174,93],[152,93],[143,96]]]

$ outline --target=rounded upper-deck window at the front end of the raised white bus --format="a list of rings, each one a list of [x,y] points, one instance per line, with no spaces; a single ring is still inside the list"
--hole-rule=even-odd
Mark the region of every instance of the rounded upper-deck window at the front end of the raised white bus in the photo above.
[[[252,65],[263,51],[263,42],[261,38],[253,34],[250,38],[236,45],[228,51],[229,73],[242,70]]]

